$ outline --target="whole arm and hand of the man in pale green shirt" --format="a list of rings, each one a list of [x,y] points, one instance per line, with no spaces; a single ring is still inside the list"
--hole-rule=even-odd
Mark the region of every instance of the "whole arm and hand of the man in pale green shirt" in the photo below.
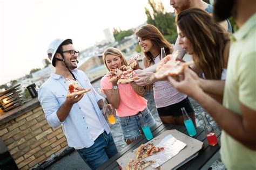
[[[185,68],[184,73],[185,79],[180,82],[169,77],[173,86],[181,93],[193,97],[230,136],[246,147],[256,150],[256,111],[242,103],[240,103],[241,115],[226,109],[204,93],[199,82],[193,79],[196,73],[188,68]]]

